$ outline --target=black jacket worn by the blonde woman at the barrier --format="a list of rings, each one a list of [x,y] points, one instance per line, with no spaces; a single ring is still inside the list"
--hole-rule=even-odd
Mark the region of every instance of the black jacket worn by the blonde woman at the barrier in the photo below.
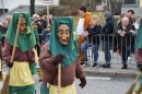
[[[94,35],[97,35],[100,33],[102,26],[100,25],[96,25],[93,28],[91,28],[90,26],[87,27],[87,33],[88,33],[88,43],[91,44],[92,37]],[[93,37],[93,44],[98,44],[99,45],[99,36],[94,36]]]

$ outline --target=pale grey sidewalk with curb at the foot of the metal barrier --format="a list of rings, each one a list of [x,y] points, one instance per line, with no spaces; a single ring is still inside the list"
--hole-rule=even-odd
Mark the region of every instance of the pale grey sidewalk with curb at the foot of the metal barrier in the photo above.
[[[92,68],[90,67],[83,67],[83,70],[85,71],[86,74],[90,75],[95,75],[95,74],[100,74],[100,75],[122,75],[122,77],[135,77],[138,74],[138,71],[134,67],[128,66],[128,69],[121,69],[121,64],[111,64],[110,68]]]

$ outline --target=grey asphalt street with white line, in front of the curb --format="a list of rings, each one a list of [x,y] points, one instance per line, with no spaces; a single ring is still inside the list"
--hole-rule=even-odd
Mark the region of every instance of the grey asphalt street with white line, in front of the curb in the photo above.
[[[34,80],[37,94],[40,94],[42,82],[38,81],[37,74],[34,75]],[[76,94],[125,94],[133,80],[134,78],[128,77],[86,75],[87,84],[84,89],[79,86],[80,80],[75,80]],[[2,86],[2,82],[0,82],[0,86]]]

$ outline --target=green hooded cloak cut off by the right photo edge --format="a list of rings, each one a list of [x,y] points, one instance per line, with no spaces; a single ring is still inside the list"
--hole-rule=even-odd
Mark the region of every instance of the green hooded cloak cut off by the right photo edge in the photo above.
[[[135,47],[142,49],[142,20],[140,22],[139,31],[137,34]]]

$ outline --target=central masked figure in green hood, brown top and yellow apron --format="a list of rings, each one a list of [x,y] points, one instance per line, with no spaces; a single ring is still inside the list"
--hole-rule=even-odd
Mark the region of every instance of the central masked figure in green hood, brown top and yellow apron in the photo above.
[[[51,37],[42,49],[39,66],[43,72],[40,94],[58,94],[58,64],[61,63],[61,94],[76,94],[74,78],[80,86],[86,84],[78,58],[78,44],[73,38],[72,17],[55,17]]]

